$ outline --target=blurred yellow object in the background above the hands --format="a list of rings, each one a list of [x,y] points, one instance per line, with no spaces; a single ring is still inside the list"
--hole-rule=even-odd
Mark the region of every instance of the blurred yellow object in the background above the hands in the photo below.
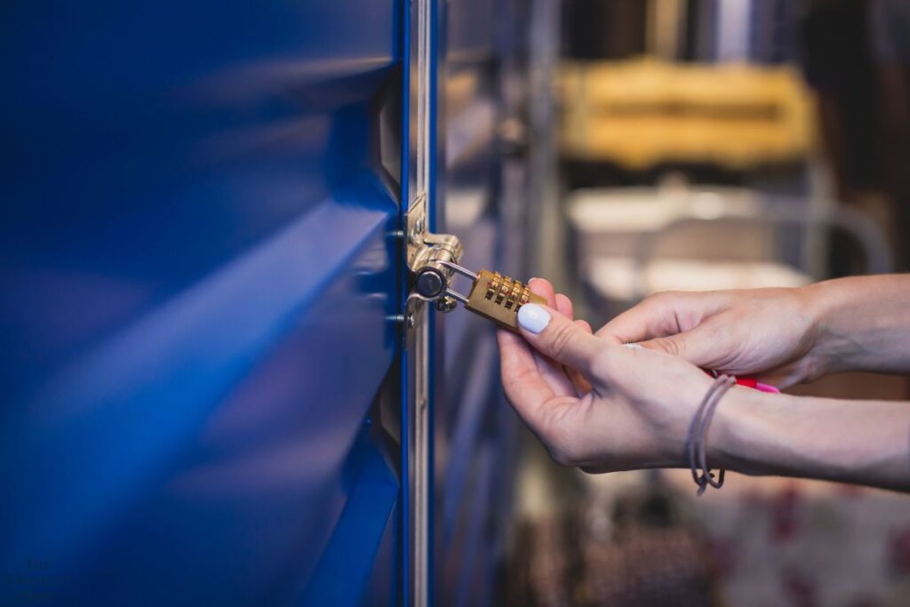
[[[573,159],[748,168],[800,161],[814,139],[814,106],[789,66],[564,62],[558,87]]]

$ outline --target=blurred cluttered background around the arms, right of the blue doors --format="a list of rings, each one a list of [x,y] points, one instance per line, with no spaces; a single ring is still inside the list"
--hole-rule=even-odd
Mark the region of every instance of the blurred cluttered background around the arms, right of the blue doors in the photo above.
[[[664,289],[906,271],[910,4],[565,0],[558,205],[535,276],[600,326]],[[906,400],[905,378],[793,390]],[[687,470],[591,476],[526,443],[511,604],[906,605],[904,496]]]

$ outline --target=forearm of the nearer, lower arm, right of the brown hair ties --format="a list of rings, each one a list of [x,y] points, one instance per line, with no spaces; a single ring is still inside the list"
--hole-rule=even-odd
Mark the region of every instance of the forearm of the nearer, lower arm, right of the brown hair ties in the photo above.
[[[910,491],[910,402],[733,389],[716,421],[713,467]]]

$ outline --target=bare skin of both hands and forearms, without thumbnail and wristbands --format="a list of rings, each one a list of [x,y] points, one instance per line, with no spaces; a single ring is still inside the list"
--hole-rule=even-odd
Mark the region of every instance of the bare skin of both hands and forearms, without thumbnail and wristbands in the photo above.
[[[596,334],[549,282],[531,289],[551,319],[539,334],[498,332],[503,387],[554,460],[590,472],[687,467],[686,432],[713,382],[699,367],[780,386],[910,370],[910,277],[658,294]],[[715,468],[910,491],[907,402],[734,387],[706,444]]]

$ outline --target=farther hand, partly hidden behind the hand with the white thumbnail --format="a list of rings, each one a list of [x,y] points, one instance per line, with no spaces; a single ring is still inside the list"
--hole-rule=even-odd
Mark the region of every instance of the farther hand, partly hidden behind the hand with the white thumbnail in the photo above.
[[[785,388],[825,371],[810,289],[656,293],[597,334]]]

